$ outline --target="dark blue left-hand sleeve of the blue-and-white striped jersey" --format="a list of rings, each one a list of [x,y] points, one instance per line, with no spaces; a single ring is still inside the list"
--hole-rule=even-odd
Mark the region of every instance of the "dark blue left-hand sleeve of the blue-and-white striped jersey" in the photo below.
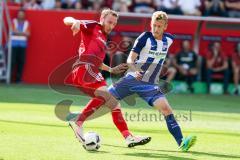
[[[147,32],[143,32],[134,42],[132,51],[136,52],[137,54],[140,54],[143,47],[146,45],[146,41],[148,38]]]

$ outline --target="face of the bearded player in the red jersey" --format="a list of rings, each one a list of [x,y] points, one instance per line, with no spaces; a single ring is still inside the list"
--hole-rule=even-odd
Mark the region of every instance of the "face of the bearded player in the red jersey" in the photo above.
[[[106,34],[110,34],[110,32],[113,30],[113,28],[117,24],[117,17],[109,14],[106,17],[104,17],[102,24],[103,24],[104,32]]]

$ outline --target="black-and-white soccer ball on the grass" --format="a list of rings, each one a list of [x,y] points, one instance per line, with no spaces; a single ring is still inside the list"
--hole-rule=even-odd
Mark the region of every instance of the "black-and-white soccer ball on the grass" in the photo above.
[[[95,132],[84,134],[85,142],[83,148],[87,151],[97,151],[100,148],[100,136]]]

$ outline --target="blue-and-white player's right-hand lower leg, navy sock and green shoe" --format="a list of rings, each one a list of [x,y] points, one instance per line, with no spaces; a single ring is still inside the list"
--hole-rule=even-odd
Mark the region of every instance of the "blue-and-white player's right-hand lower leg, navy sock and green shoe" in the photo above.
[[[175,138],[179,148],[182,151],[188,151],[196,142],[196,136],[183,138],[182,131],[174,118],[172,108],[165,97],[158,98],[153,103],[154,107],[161,112],[166,120],[169,132]]]

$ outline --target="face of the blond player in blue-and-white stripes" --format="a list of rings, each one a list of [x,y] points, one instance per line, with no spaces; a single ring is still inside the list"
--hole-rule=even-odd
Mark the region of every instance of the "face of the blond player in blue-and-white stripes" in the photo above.
[[[153,20],[151,22],[151,29],[153,36],[155,38],[160,38],[162,37],[163,32],[167,29],[167,23],[165,20]]]

